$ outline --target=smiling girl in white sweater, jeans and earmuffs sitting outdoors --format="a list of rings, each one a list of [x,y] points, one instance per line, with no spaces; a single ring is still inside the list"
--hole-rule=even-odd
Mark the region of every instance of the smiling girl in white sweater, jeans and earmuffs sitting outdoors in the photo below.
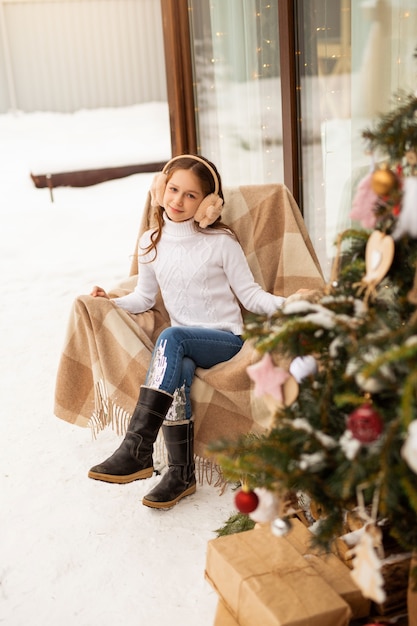
[[[190,403],[196,367],[210,368],[239,352],[239,303],[252,313],[272,315],[285,298],[254,281],[235,234],[220,221],[221,179],[210,161],[174,157],[155,177],[151,198],[157,227],[140,240],[137,286],[113,302],[141,313],[153,307],[160,290],[171,326],[155,344],[122,444],[88,475],[112,483],[150,477],[153,444],[162,427],[168,470],[142,502],[169,508],[196,490]],[[91,295],[109,298],[101,287]]]

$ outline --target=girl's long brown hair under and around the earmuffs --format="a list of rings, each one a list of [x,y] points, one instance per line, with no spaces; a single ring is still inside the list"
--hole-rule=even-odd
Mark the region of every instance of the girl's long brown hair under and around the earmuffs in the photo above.
[[[213,178],[213,174],[210,171],[209,167],[206,167],[205,164],[202,163],[201,161],[206,162],[208,166],[213,169],[217,177],[217,184]],[[163,170],[166,174],[167,183],[170,180],[170,178],[173,176],[174,172],[176,172],[177,170],[190,170],[193,172],[193,174],[197,176],[197,178],[199,179],[201,183],[201,188],[203,191],[204,198],[206,198],[211,193],[214,193],[216,190],[216,187],[218,187],[217,195],[224,201],[222,181],[221,181],[220,174],[216,166],[214,165],[214,163],[212,163],[205,157],[198,156],[198,160],[194,159],[192,155],[177,157],[175,160],[172,161],[172,163],[170,163],[168,167],[165,166]],[[164,215],[164,208],[162,206],[157,206],[153,214],[153,218],[154,218],[154,221],[156,222],[156,226],[151,234],[151,243],[149,244],[147,248],[145,248],[145,250],[141,253],[141,255],[148,254],[148,252],[155,250],[154,259],[156,258],[156,254],[157,254],[156,247],[162,237],[162,229],[164,227],[163,215]],[[217,220],[213,222],[213,224],[209,224],[206,228],[201,228],[197,222],[194,222],[194,228],[197,232],[202,232],[202,233],[214,234],[216,231],[226,232],[231,237],[234,237],[235,239],[237,239],[237,236],[234,230],[230,226],[227,226],[227,224],[224,224],[221,221],[221,216],[219,216]]]

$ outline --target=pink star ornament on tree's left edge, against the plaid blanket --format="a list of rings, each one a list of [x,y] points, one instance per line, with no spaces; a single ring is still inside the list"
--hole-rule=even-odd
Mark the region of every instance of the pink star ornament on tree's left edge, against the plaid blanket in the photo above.
[[[266,352],[257,363],[249,365],[246,371],[255,383],[256,397],[270,396],[280,406],[288,406],[297,398],[297,381],[282,367],[274,365],[269,352]]]

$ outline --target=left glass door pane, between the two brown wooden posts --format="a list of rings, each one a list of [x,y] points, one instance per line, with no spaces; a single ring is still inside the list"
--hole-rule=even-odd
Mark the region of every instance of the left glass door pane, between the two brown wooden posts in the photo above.
[[[226,186],[283,181],[277,0],[189,0],[199,153]]]

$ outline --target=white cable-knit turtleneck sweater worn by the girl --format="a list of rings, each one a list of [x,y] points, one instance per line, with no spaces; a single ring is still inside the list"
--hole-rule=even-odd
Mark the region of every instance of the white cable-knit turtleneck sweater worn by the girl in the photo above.
[[[140,239],[140,249],[150,243],[152,231]],[[252,313],[272,315],[285,298],[264,291],[252,275],[240,244],[222,230],[198,232],[194,220],[172,222],[165,218],[155,251],[139,257],[135,290],[114,302],[130,313],[142,313],[155,304],[161,290],[172,326],[200,326],[243,331],[238,300]],[[151,262],[147,262],[151,260]]]

